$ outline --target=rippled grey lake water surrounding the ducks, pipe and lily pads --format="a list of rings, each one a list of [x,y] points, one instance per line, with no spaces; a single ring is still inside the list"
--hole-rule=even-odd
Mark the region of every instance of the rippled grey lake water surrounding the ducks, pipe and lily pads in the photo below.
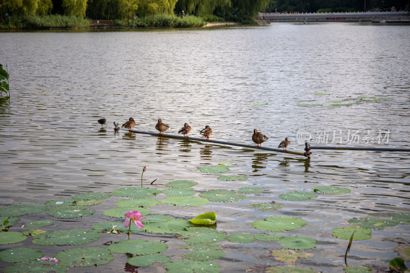
[[[0,206],[44,204],[85,192],[112,192],[140,185],[166,190],[173,180],[194,180],[195,196],[209,190],[263,188],[238,202],[210,202],[203,206],[150,207],[151,214],[191,219],[215,212],[217,230],[227,234],[263,232],[253,221],[271,216],[297,217],[306,226],[281,232],[283,236],[311,237],[317,247],[296,264],[325,272],[342,272],[348,241],[332,236],[333,229],[350,226],[353,217],[390,218],[410,213],[410,153],[313,150],[311,160],[297,155],[258,151],[229,145],[114,132],[133,117],[135,129],[155,132],[158,118],[176,134],[183,123],[190,136],[210,125],[211,139],[253,144],[253,130],[270,139],[262,146],[277,148],[289,137],[289,150],[303,152],[297,131],[312,134],[313,145],[409,148],[410,28],[362,24],[274,24],[214,29],[142,31],[45,31],[0,33],[0,62],[8,64],[11,99],[0,104]],[[318,95],[318,94],[329,95]],[[315,95],[316,94],[316,95]],[[359,97],[366,97],[358,100]],[[370,98],[374,97],[374,98]],[[375,100],[375,98],[377,100]],[[380,100],[381,99],[381,100]],[[334,102],[334,100],[339,102]],[[341,101],[341,102],[340,102]],[[335,103],[360,104],[329,108]],[[268,103],[253,106],[254,103]],[[297,104],[322,104],[300,107]],[[327,106],[327,107],[326,107]],[[101,129],[99,118],[106,118]],[[326,143],[327,142],[327,143]],[[333,143],[332,143],[333,142]],[[223,175],[244,181],[222,181],[198,166],[233,162]],[[157,179],[154,185],[150,182]],[[308,201],[286,201],[287,192],[335,185],[349,194],[320,194]],[[160,194],[154,199],[164,199]],[[61,221],[46,213],[20,216],[10,231],[29,228],[28,221],[54,221],[44,230],[90,229],[115,221],[103,215],[122,199],[112,196],[90,206],[91,217]],[[281,202],[276,211],[250,206]],[[64,219],[63,219],[64,220]],[[372,230],[372,238],[354,241],[350,265],[377,265],[387,270],[398,257],[395,242],[409,238],[409,226],[399,224]],[[171,260],[190,250],[174,235],[138,233],[134,239],[167,240]],[[101,235],[81,245],[125,240]],[[263,271],[266,265],[286,265],[270,249],[278,242],[220,242],[227,255],[214,260],[221,272]],[[46,256],[73,247],[42,247],[23,242],[0,245],[35,247]],[[297,250],[295,250],[297,251]],[[70,268],[68,272],[122,272],[127,256],[98,267]],[[11,263],[0,262],[0,268]],[[407,266],[409,264],[407,263]],[[257,269],[259,268],[259,269]],[[165,272],[162,263],[135,269]]]

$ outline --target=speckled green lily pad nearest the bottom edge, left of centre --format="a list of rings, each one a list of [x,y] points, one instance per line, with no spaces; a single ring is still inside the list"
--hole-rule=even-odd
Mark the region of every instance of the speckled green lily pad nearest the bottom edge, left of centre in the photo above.
[[[167,269],[167,273],[182,273],[182,272],[207,272],[218,273],[220,272],[219,265],[214,261],[196,261],[180,259],[175,260],[164,265]]]

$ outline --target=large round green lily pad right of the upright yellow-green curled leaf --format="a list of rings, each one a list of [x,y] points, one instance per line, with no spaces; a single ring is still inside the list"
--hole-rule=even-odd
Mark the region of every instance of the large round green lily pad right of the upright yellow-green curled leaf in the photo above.
[[[299,218],[272,216],[262,221],[252,222],[252,226],[269,232],[284,232],[306,225],[306,221]]]

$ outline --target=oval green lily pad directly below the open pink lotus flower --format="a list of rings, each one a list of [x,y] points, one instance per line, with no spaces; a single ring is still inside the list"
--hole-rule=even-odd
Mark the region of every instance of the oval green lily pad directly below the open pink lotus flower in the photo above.
[[[144,240],[118,241],[108,246],[115,253],[130,253],[134,255],[151,255],[167,250],[165,243]]]

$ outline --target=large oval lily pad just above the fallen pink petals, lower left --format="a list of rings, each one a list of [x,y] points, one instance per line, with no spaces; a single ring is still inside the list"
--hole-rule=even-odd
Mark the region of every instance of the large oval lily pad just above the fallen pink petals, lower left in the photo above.
[[[36,245],[81,245],[88,244],[99,239],[99,234],[85,229],[52,230],[33,236],[33,244]]]

